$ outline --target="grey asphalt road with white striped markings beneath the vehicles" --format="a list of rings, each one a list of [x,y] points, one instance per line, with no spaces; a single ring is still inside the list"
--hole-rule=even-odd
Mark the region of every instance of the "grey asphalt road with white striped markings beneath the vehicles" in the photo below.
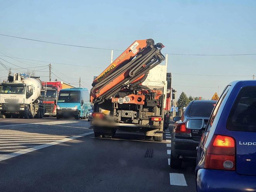
[[[168,165],[168,130],[154,142],[121,132],[94,138],[88,127],[86,120],[0,119],[0,190],[195,191],[193,163]]]

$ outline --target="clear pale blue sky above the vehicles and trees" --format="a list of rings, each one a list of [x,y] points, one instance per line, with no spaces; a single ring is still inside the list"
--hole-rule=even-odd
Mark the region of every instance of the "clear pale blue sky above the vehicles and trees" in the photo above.
[[[5,1],[0,0],[0,34],[64,44],[126,49],[134,40],[162,42],[163,53],[256,53],[256,1]],[[91,88],[94,75],[108,66],[111,51],[46,44],[0,36],[0,52],[8,56],[49,61],[57,77]],[[9,57],[20,67],[47,63]],[[121,54],[114,51],[114,57]],[[13,68],[12,64],[0,61]],[[20,62],[22,61],[22,62]],[[75,67],[54,62],[82,65]],[[96,68],[98,67],[98,68]],[[37,72],[48,80],[47,69]],[[1,66],[2,70],[3,67]],[[256,75],[254,56],[168,56],[173,87],[188,96],[206,99],[231,81]],[[55,79],[56,77],[52,75]],[[192,76],[180,74],[212,74]],[[7,71],[0,71],[0,80]],[[244,77],[242,77],[244,76]],[[57,79],[59,79],[57,78]]]

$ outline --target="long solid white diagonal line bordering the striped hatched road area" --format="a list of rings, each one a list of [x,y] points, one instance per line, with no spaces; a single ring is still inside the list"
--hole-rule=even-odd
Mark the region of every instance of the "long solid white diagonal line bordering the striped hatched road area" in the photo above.
[[[65,139],[62,139],[62,140],[58,140],[58,141],[53,141],[51,143],[45,143],[44,145],[37,145],[35,147],[32,147],[32,148],[27,148],[27,149],[24,149],[24,150],[20,150],[20,151],[17,151],[17,152],[14,152],[14,153],[10,153],[10,154],[4,154],[4,155],[1,155],[0,156],[0,161],[3,161],[3,160],[7,160],[9,158],[12,158],[12,157],[16,157],[16,156],[19,156],[19,155],[23,155],[25,153],[29,153],[29,152],[33,152],[33,151],[36,151],[36,150],[39,150],[39,149],[42,149],[42,148],[45,148],[45,147],[50,147],[52,145],[57,145],[59,143],[63,143],[63,142],[66,142],[66,141],[70,141],[70,140],[73,140],[73,139],[76,139],[80,136],[86,136],[86,135],[91,135],[93,133],[93,131],[89,132],[89,133],[84,133],[84,134],[81,134],[81,135],[77,135],[77,136],[72,136],[72,137],[69,137],[69,138],[65,138]]]

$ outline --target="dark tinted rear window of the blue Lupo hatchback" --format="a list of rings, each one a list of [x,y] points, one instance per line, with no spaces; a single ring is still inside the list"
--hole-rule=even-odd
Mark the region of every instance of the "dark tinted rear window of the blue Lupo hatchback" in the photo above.
[[[230,111],[227,129],[256,132],[256,86],[240,90]]]

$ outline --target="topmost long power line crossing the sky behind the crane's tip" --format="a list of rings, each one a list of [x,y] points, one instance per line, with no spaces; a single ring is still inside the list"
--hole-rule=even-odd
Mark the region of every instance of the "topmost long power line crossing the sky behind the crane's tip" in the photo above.
[[[72,46],[72,47],[83,47],[83,48],[88,48],[88,49],[102,49],[102,50],[110,50],[110,51],[112,51],[112,50],[113,51],[124,51],[124,50],[120,50],[120,49],[106,49],[106,48],[100,48],[100,47],[88,47],[88,46],[82,46],[82,45],[63,44],[63,43],[56,43],[56,42],[37,40],[37,39],[29,39],[29,38],[17,37],[17,36],[12,36],[12,35],[5,35],[5,34],[0,34],[0,35],[6,36],[6,37],[13,37],[13,38],[18,38],[18,39],[32,40],[32,41],[44,42],[44,43],[50,43],[50,44],[57,44],[57,45],[66,45],[66,46]],[[179,55],[179,56],[248,56],[248,55],[256,55],[256,53],[252,53],[252,54],[177,54],[177,53],[165,53],[165,54]]]

